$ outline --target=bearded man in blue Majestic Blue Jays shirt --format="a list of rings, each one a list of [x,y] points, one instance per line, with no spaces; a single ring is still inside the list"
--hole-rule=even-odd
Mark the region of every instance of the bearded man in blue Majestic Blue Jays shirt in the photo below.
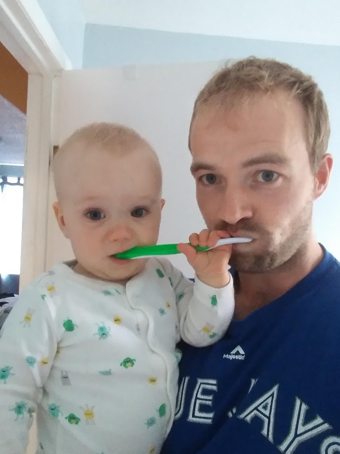
[[[248,58],[198,94],[189,148],[209,229],[233,245],[225,337],[181,345],[175,422],[162,453],[340,453],[340,264],[318,244],[313,202],[333,159],[310,76]]]

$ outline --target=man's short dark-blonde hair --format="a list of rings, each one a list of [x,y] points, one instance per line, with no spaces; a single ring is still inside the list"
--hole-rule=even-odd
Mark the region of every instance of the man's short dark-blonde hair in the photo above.
[[[285,91],[300,101],[304,113],[307,132],[307,146],[310,164],[315,171],[327,152],[330,136],[328,109],[322,91],[312,76],[303,73],[287,63],[273,59],[249,57],[227,65],[217,72],[198,93],[190,124],[199,109],[210,103],[226,108],[249,99],[254,94]]]

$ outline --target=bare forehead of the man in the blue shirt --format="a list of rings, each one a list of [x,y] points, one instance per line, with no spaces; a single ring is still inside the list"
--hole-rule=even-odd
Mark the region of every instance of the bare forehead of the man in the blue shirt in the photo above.
[[[256,147],[263,153],[283,150],[294,141],[306,141],[302,107],[294,99],[267,96],[246,107],[201,107],[192,123],[190,148],[197,159],[213,148],[227,152],[229,147],[230,151]]]

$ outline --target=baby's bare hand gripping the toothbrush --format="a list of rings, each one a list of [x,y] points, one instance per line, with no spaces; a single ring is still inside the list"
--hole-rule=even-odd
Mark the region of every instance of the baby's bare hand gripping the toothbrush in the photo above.
[[[222,288],[229,283],[227,265],[231,255],[231,244],[208,251],[197,251],[192,246],[213,247],[220,238],[229,237],[230,235],[223,230],[209,232],[204,229],[199,234],[190,235],[190,244],[180,243],[177,246],[177,249],[186,256],[189,264],[194,268],[198,279],[210,287]]]

